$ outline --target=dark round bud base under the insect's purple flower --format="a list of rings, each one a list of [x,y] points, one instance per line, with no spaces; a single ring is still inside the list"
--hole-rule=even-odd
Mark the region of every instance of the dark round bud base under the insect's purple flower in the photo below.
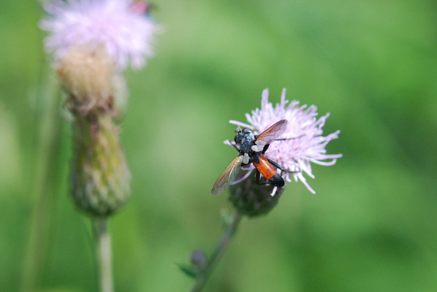
[[[229,187],[229,201],[241,215],[256,217],[270,212],[278,203],[283,190],[283,187],[278,188],[275,196],[270,196],[271,185],[260,185],[253,179],[246,179]]]

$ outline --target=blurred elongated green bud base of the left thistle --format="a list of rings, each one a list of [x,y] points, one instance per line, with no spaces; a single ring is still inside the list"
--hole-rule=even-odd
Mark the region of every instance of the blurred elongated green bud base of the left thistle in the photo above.
[[[110,114],[76,116],[72,196],[80,209],[108,216],[130,196],[131,174]]]

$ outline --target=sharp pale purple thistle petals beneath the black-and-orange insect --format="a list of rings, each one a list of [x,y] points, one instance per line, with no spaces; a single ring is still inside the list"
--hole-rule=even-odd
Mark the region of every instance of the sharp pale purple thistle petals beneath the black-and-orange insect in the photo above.
[[[339,130],[325,137],[322,136],[322,127],[329,113],[317,119],[317,107],[312,105],[299,106],[298,101],[292,101],[287,105],[285,100],[285,88],[282,90],[281,102],[274,107],[268,102],[268,89],[264,89],[261,100],[261,109],[252,110],[252,114],[246,113],[246,119],[249,124],[238,121],[229,121],[241,127],[252,129],[254,134],[260,134],[271,125],[280,120],[287,120],[288,125],[285,132],[279,137],[294,138],[292,140],[277,141],[271,143],[265,156],[290,172],[281,173],[285,181],[291,182],[291,176],[294,180],[301,181],[309,191],[316,193],[306,182],[303,172],[309,177],[315,178],[311,170],[311,162],[320,165],[333,165],[337,158],[342,154],[326,154],[325,146],[333,139],[338,138]],[[225,144],[234,144],[234,142],[225,141]],[[326,161],[330,160],[330,161]],[[247,178],[254,169],[253,165],[247,168],[248,173],[238,181],[241,182]],[[274,188],[271,195],[276,193],[277,187]]]

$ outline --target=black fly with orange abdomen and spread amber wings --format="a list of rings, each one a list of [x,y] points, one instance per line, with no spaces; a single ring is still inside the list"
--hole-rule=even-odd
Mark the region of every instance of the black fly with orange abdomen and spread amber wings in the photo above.
[[[225,171],[217,179],[211,190],[211,196],[218,196],[225,189],[235,181],[236,175],[240,171],[241,165],[252,163],[257,169],[257,183],[262,184],[262,176],[271,184],[277,187],[283,187],[285,182],[277,168],[285,171],[278,163],[264,157],[268,146],[273,141],[289,140],[277,139],[287,129],[287,120],[281,120],[270,126],[267,130],[259,135],[254,135],[248,128],[236,130],[235,147],[240,153],[235,159],[226,167]],[[294,138],[291,138],[294,139]],[[276,168],[275,168],[276,167]]]

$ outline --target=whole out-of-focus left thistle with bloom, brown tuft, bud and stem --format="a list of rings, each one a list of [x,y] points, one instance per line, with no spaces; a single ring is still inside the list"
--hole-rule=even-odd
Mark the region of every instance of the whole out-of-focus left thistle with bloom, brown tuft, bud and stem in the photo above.
[[[54,0],[44,9],[45,48],[52,53],[72,115],[72,198],[92,218],[100,291],[112,291],[107,219],[131,194],[117,123],[128,95],[123,72],[145,65],[159,28],[141,1]]]

